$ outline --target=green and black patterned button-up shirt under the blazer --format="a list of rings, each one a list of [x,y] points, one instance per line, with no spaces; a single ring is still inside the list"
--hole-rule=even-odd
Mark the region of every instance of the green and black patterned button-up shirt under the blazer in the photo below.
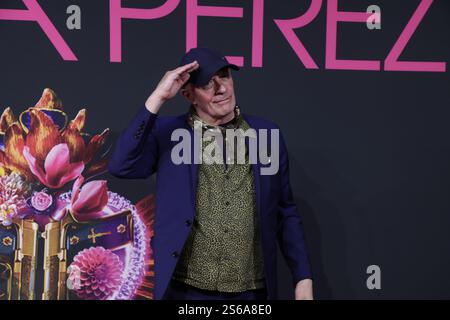
[[[234,127],[249,128],[239,111]],[[203,150],[213,141],[203,140]],[[263,288],[258,220],[248,151],[245,164],[200,164],[196,217],[174,279],[200,289],[222,292]]]

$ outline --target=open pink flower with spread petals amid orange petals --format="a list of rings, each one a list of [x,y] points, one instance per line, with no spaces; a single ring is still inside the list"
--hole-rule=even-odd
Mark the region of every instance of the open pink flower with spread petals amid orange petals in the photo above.
[[[69,147],[66,143],[54,146],[47,154],[44,168],[30,153],[28,146],[23,148],[23,156],[27,160],[31,172],[39,181],[52,189],[59,189],[67,182],[77,178],[84,170],[83,161],[70,163]]]

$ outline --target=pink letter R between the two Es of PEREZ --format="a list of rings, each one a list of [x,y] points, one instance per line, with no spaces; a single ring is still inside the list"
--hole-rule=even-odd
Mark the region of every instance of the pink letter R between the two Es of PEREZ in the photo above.
[[[312,0],[311,5],[309,6],[305,14],[290,20],[274,20],[286,40],[291,45],[292,49],[294,49],[300,61],[305,65],[307,69],[318,69],[319,67],[314,62],[311,55],[308,53],[303,43],[295,34],[294,29],[302,28],[313,21],[319,14],[321,7],[322,0]]]

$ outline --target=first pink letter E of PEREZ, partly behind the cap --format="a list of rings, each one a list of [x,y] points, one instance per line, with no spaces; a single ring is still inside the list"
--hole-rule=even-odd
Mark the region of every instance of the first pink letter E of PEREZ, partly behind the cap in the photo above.
[[[219,7],[219,6],[199,6],[197,0],[186,0],[186,51],[197,47],[198,35],[198,17],[224,17],[224,18],[242,18],[244,16],[243,8]],[[262,43],[261,43],[262,46]],[[227,56],[230,63],[242,67],[244,57]]]

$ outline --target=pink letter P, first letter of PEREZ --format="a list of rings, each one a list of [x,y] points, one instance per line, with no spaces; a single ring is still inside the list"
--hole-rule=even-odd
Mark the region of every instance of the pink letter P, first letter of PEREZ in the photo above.
[[[122,61],[122,19],[158,19],[169,15],[180,0],[167,0],[163,5],[152,9],[122,7],[121,0],[110,0],[110,61]]]

